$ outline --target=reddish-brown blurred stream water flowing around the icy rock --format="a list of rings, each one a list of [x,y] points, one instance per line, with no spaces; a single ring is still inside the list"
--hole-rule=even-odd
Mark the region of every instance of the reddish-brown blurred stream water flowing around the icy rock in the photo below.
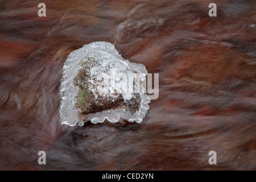
[[[0,1],[0,169],[256,169],[255,1],[44,2]],[[60,125],[63,64],[94,41],[159,73],[142,123]]]

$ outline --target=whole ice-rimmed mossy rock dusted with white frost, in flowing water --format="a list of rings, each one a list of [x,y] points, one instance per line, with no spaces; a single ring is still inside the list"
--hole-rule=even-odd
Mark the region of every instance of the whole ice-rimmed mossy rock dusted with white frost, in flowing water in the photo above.
[[[60,84],[60,122],[141,122],[150,99],[142,81],[142,64],[123,59],[113,44],[93,42],[70,53]]]

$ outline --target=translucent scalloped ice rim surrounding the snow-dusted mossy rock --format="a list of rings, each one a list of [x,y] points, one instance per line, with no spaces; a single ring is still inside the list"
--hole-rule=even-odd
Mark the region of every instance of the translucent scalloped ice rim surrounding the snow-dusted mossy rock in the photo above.
[[[106,48],[108,48],[108,52],[112,51],[110,53],[112,53],[115,57],[118,57],[118,59],[120,59],[121,61],[125,61],[131,70],[137,71],[140,74],[142,81],[147,75],[147,70],[143,64],[130,63],[128,60],[123,59],[123,57],[119,55],[119,53],[111,43],[93,42],[90,44],[86,44],[82,48],[71,52],[68,55],[67,61],[64,63],[63,77],[61,78],[60,84],[61,101],[59,113],[60,122],[62,125],[75,126],[76,123],[78,123],[80,126],[84,125],[84,122],[79,119],[79,113],[76,109],[76,96],[79,92],[79,88],[73,85],[73,80],[81,69],[81,65],[79,63],[85,57],[88,49],[96,47],[103,49],[104,51],[106,51]],[[123,109],[112,109],[98,112],[95,114],[89,114],[86,119],[90,120],[92,123],[95,124],[98,122],[104,122],[105,119],[108,119],[108,121],[110,122],[118,122],[120,117],[123,119],[127,119],[127,121],[129,122],[142,122],[142,119],[144,118],[147,110],[149,109],[149,106],[147,104],[150,102],[148,96],[143,93],[144,88],[142,88],[142,93],[139,93],[141,97],[141,107],[134,114],[131,114],[129,111],[125,111]]]

